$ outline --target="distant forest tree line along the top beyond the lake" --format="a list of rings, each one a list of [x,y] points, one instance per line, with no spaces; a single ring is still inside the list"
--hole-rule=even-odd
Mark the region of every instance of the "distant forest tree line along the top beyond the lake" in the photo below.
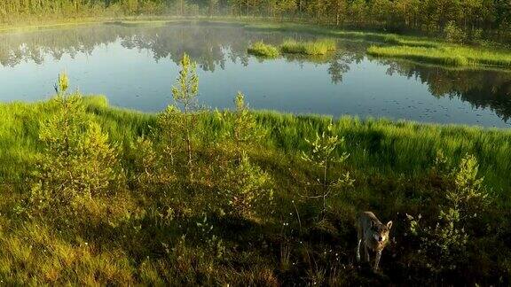
[[[20,17],[235,15],[396,30],[508,31],[509,0],[2,0],[0,19]]]

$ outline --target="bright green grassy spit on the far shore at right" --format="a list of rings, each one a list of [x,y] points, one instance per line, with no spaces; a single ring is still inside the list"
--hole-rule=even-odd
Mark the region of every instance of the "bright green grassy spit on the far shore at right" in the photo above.
[[[413,46],[371,46],[367,53],[376,57],[405,58],[445,66],[511,67],[511,54],[460,46],[439,48]]]

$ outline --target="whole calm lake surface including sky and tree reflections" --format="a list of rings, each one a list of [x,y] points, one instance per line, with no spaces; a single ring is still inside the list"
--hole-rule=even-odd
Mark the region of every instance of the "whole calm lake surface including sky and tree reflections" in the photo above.
[[[111,105],[157,112],[171,103],[177,63],[187,52],[198,63],[200,103],[211,108],[232,107],[240,90],[254,109],[511,127],[511,73],[369,58],[369,43],[344,40],[338,52],[322,58],[263,60],[246,52],[251,42],[289,37],[314,38],[205,24],[4,34],[0,101],[49,98],[65,70],[73,89],[106,95]]]

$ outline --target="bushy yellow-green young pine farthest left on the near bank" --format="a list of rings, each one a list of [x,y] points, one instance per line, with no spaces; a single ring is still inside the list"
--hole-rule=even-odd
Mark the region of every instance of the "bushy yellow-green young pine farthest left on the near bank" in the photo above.
[[[87,116],[81,95],[67,95],[66,79],[59,75],[59,95],[52,100],[57,111],[39,132],[43,152],[30,198],[39,212],[75,213],[82,198],[107,197],[122,181],[117,152]]]

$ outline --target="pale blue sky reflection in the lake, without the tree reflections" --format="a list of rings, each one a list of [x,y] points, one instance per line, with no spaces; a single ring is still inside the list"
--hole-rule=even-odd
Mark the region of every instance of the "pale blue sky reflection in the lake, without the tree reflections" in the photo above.
[[[0,66],[0,100],[48,98],[57,74],[66,70],[72,87],[84,93],[107,95],[112,105],[156,112],[170,103],[170,87],[178,71],[169,58],[155,62],[152,51],[124,48],[121,40],[98,45],[90,55],[43,57],[42,65],[22,61],[13,67]],[[427,83],[389,75],[389,66],[377,61],[364,58],[348,65],[342,82],[334,84],[328,64],[284,58],[260,62],[251,57],[244,66],[240,59],[236,63],[227,59],[224,69],[199,69],[200,103],[232,107],[232,98],[240,90],[255,109],[509,127],[491,109],[473,108],[459,97],[433,97]]]

